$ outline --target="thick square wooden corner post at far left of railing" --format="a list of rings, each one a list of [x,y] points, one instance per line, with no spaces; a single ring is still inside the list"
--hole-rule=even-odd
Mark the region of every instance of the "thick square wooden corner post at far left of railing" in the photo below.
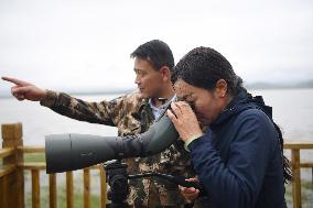
[[[3,158],[3,165],[15,165],[15,169],[4,176],[7,180],[3,191],[6,191],[6,204],[8,207],[24,208],[24,174],[23,169],[18,166],[23,163],[23,153],[18,151],[18,146],[23,145],[22,123],[1,124],[2,147],[13,147],[15,154]]]

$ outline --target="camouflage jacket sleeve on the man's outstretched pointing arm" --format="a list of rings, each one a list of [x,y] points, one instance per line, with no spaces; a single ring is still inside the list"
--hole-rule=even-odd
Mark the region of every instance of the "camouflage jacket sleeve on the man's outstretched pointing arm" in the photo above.
[[[120,97],[101,102],[87,102],[64,92],[48,90],[47,97],[41,100],[40,103],[72,119],[116,127],[120,118],[119,112],[123,106],[123,98]]]

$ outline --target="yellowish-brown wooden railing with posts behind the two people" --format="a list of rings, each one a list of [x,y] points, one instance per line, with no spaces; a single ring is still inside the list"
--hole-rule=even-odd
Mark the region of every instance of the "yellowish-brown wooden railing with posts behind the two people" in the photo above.
[[[46,168],[43,162],[24,162],[26,153],[44,153],[42,146],[23,146],[22,124],[2,124],[2,149],[0,149],[0,208],[24,208],[24,171],[31,172],[32,207],[40,208],[40,172]],[[291,164],[294,179],[292,182],[293,207],[301,207],[301,175],[300,168],[312,168],[313,162],[301,163],[301,150],[313,150],[312,142],[285,142],[284,150],[291,150]],[[84,183],[84,208],[90,207],[90,171],[98,169],[100,175],[100,205],[106,207],[106,177],[100,165],[85,168],[83,172]],[[48,175],[48,204],[51,208],[57,207],[57,174]],[[66,172],[66,205],[74,207],[74,177],[73,172]]]

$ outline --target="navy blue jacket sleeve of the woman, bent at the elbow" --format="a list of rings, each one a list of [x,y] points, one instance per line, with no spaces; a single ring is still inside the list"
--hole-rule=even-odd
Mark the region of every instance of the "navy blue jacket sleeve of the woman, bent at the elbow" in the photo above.
[[[268,161],[278,145],[277,133],[265,114],[244,117],[238,125],[231,127],[235,136],[227,160],[222,160],[214,149],[211,130],[188,145],[194,168],[216,207],[253,207]],[[216,138],[219,139],[225,138]]]

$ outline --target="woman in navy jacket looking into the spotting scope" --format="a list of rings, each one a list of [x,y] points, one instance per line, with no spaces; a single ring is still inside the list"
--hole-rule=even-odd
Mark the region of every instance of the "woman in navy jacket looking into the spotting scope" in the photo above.
[[[209,47],[187,53],[173,80],[177,97],[195,108],[180,101],[168,114],[191,151],[206,207],[285,208],[283,183],[291,175],[271,108],[249,95],[229,62]],[[206,132],[199,124],[208,125]],[[188,199],[201,194],[182,191]]]

